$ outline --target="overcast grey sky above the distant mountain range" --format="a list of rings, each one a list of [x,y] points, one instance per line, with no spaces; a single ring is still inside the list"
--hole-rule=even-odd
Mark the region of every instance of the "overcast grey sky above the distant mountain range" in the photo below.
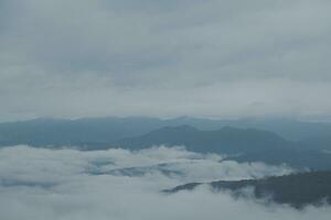
[[[0,0],[0,121],[330,117],[329,0]]]

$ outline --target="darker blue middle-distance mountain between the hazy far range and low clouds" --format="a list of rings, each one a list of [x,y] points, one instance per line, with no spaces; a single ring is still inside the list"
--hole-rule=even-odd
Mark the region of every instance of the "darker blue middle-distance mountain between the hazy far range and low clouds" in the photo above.
[[[239,163],[287,164],[301,170],[331,169],[330,153],[306,150],[273,132],[255,129],[225,127],[215,131],[201,131],[190,125],[166,127],[117,143],[117,146],[130,150],[157,145],[183,145],[192,152],[227,154],[224,160]]]

